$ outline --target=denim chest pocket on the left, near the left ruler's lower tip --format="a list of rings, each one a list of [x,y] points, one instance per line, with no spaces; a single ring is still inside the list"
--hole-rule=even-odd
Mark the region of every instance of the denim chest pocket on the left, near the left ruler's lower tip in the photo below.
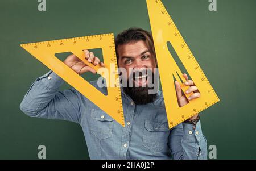
[[[90,113],[90,132],[98,139],[112,136],[114,119],[102,110],[92,109]]]

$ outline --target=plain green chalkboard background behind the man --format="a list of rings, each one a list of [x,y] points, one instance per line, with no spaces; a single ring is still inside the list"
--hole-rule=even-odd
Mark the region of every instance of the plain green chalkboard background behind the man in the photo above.
[[[208,0],[162,2],[221,99],[201,112],[208,145],[216,145],[217,159],[256,159],[256,1],[217,0],[217,11],[209,11]],[[40,144],[47,159],[89,159],[78,124],[20,111],[24,94],[48,68],[19,44],[117,35],[132,26],[150,31],[146,0],[46,0],[46,11],[38,5],[37,0],[0,2],[0,159],[38,159]]]

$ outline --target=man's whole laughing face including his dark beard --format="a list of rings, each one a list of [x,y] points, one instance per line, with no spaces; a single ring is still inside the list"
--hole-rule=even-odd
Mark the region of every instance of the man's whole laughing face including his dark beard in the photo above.
[[[148,85],[155,81],[156,62],[146,43],[141,40],[119,45],[117,53],[118,67],[124,68],[127,73],[126,76],[122,74],[122,83],[126,81],[128,85],[128,87],[123,87],[126,94],[137,104],[144,105],[153,102],[156,93],[149,93],[149,90],[154,87]]]

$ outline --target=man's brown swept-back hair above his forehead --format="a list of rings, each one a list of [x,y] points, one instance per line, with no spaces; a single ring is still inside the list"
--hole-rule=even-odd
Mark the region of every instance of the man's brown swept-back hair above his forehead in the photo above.
[[[131,27],[119,33],[117,37],[115,37],[115,49],[117,50],[119,45],[136,43],[139,40],[143,40],[146,43],[148,50],[154,56],[156,61],[152,34],[146,30],[143,30],[142,28]],[[118,57],[119,56],[117,52],[117,59]]]

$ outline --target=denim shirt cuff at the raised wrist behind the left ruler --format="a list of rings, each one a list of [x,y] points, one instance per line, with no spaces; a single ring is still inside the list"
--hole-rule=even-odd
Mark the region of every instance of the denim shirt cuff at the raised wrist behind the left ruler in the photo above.
[[[59,89],[59,87],[64,83],[64,80],[52,70],[39,77],[38,80],[43,82],[43,84],[45,84],[49,89]]]

